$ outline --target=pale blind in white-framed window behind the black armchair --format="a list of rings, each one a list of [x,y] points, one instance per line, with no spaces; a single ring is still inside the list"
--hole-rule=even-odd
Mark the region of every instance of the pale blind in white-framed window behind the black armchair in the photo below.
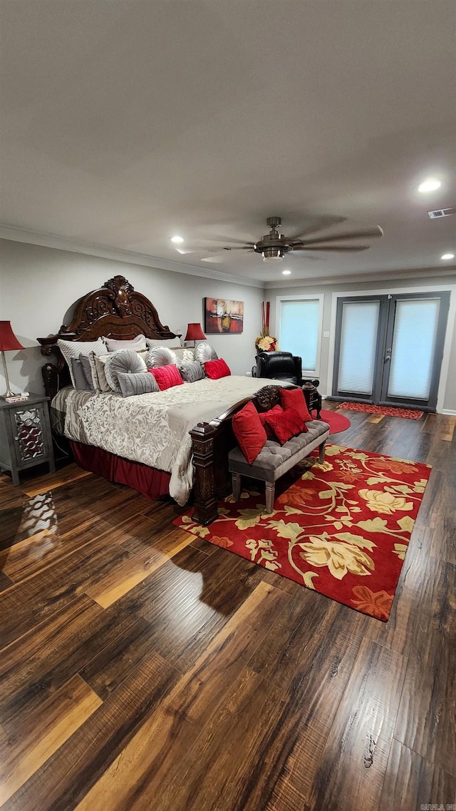
[[[280,303],[279,349],[299,355],[303,371],[317,372],[319,324],[319,299]]]

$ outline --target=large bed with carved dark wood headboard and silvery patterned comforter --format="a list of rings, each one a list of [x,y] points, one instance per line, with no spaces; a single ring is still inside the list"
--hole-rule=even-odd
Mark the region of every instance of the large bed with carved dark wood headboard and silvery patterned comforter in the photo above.
[[[271,381],[244,375],[198,380],[157,393],[121,397],[74,388],[58,341],[87,345],[101,337],[130,341],[139,335],[166,345],[176,339],[156,307],[116,276],[75,305],[70,324],[38,338],[53,431],[66,436],[76,461],[111,481],[149,497],[168,492],[178,504],[193,501],[198,521],[217,517],[217,501],[229,489],[228,452],[235,446],[231,418],[255,398],[262,410],[275,405]],[[62,345],[62,344],[61,344]]]

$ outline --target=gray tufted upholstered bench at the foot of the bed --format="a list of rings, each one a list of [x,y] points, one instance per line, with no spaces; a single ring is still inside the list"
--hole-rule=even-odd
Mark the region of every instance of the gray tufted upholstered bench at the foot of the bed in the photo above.
[[[258,453],[252,465],[246,461],[241,448],[233,448],[228,453],[228,470],[232,474],[232,497],[238,501],[241,497],[241,476],[258,478],[266,483],[266,513],[274,508],[275,482],[288,470],[297,465],[301,459],[309,456],[314,448],[320,448],[319,461],[325,458],[325,443],[330,436],[330,426],[321,419],[306,423],[308,431],[281,445],[276,440],[266,440],[264,448]]]

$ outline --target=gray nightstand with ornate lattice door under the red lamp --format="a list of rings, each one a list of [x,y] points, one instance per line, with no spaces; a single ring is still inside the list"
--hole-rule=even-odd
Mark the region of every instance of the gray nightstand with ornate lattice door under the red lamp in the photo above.
[[[11,470],[15,487],[29,467],[47,462],[55,472],[48,402],[39,394],[15,403],[0,398],[0,468]]]

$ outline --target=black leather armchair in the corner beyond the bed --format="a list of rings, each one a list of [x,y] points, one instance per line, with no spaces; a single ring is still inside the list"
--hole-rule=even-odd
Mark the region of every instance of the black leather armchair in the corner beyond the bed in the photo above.
[[[321,419],[322,395],[317,392],[320,381],[303,378],[302,361],[299,355],[291,352],[258,352],[256,366],[252,367],[253,377],[264,377],[269,380],[283,380],[284,383],[293,383],[300,386],[304,392],[309,413],[317,410],[317,419]]]

